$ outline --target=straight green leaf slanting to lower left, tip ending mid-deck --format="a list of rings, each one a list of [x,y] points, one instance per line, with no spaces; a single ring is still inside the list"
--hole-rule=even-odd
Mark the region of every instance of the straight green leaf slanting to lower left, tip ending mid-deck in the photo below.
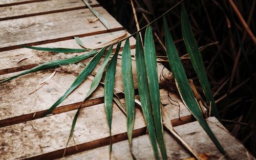
[[[100,58],[104,54],[106,48],[101,49],[101,51],[96,54],[88,63],[88,65],[80,72],[80,74],[76,77],[75,81],[72,83],[70,88],[66,91],[65,94],[63,94],[45,113],[44,116],[47,116],[51,111],[56,108],[63,100],[65,100],[69,94],[73,92],[73,90],[81,84],[89,74],[92,73],[95,66],[98,64]]]

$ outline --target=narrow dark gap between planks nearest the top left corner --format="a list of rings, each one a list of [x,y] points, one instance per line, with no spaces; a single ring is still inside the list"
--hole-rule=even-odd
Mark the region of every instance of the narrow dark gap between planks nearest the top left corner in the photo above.
[[[49,0],[47,0],[49,1]],[[91,5],[92,7],[100,7],[99,4]],[[30,17],[30,16],[36,16],[36,15],[45,15],[45,14],[51,14],[51,13],[58,13],[58,12],[66,12],[66,11],[72,11],[72,10],[78,10],[78,9],[84,9],[88,8],[86,5],[80,6],[80,7],[74,7],[74,8],[66,8],[66,9],[59,9],[54,11],[47,11],[47,12],[40,12],[40,13],[32,13],[32,14],[24,14],[24,15],[18,15],[18,16],[12,16],[12,17],[5,17],[0,18],[0,21],[2,20],[9,20],[9,19],[16,19],[16,18],[24,18],[24,17]]]

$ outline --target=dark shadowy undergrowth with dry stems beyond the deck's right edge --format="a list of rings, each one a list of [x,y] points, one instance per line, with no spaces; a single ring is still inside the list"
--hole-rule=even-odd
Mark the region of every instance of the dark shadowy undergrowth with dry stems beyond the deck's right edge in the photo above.
[[[98,0],[99,3],[112,16],[114,16],[127,31],[134,33],[137,31],[134,20],[134,14],[130,0]],[[158,1],[158,0],[133,0],[137,11],[140,28],[147,25],[143,17],[144,14],[149,21],[154,20],[169,8],[172,8],[179,1]],[[246,34],[238,16],[230,6],[229,1],[223,1],[231,16],[234,18],[241,40],[244,43],[245,54],[249,64],[245,60],[245,55],[239,55],[240,45],[236,32],[229,26],[229,22],[220,5],[215,0],[197,0],[184,1],[188,16],[193,27],[193,32],[201,47],[208,43],[219,41],[218,44],[212,45],[201,52],[208,79],[215,94],[217,107],[223,120],[223,125],[236,136],[255,156],[256,155],[256,89],[255,77],[256,72],[256,48],[250,37]],[[255,0],[234,1],[240,13],[255,35]],[[138,5],[139,4],[139,5]],[[180,6],[170,11],[166,15],[170,32],[175,40],[176,47],[180,56],[186,54],[184,41],[181,33]],[[251,14],[251,16],[249,16]],[[159,19],[152,25],[154,32],[164,43],[163,21]],[[144,31],[142,31],[144,35]],[[143,37],[143,36],[142,36]],[[158,55],[165,55],[165,51],[159,40],[155,37],[156,50]],[[238,64],[235,60],[239,58]],[[194,68],[190,60],[182,60],[187,76],[193,79],[198,92],[203,93],[199,85]],[[168,64],[164,64],[168,68]],[[249,70],[252,68],[252,71]],[[232,70],[236,68],[232,78]],[[250,79],[251,78],[251,79]],[[232,80],[231,80],[232,79]],[[231,82],[232,81],[232,82]]]

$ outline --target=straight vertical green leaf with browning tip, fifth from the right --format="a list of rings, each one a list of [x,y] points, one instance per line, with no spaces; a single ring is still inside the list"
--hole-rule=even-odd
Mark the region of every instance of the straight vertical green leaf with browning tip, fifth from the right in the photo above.
[[[135,94],[132,72],[132,57],[129,39],[126,39],[122,52],[122,80],[124,88],[125,106],[127,114],[127,136],[132,146],[133,126],[135,117]]]

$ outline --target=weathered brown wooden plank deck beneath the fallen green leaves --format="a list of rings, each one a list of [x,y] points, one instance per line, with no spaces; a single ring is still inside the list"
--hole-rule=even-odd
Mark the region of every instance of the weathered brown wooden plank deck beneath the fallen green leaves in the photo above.
[[[91,0],[94,7],[109,22],[107,30],[81,0],[2,0],[0,1],[0,79],[15,75],[45,62],[40,54],[30,49],[20,49],[20,44],[40,47],[80,48],[73,39],[81,38],[88,48],[98,48],[126,33],[123,27],[100,5]],[[128,34],[127,34],[128,35]],[[134,53],[135,39],[130,38]],[[18,60],[30,57],[17,63]],[[84,62],[88,62],[84,60]],[[135,62],[133,62],[133,71]],[[99,66],[96,67],[96,70]],[[121,80],[121,60],[118,60],[115,87],[123,90]],[[163,66],[158,64],[159,78]],[[99,86],[83,103],[74,131],[74,139],[65,149],[72,119],[79,102],[87,94],[91,80],[84,81],[60,106],[52,116],[40,118],[71,85],[74,74],[57,72],[45,85],[39,84],[54,70],[42,71],[19,77],[0,84],[0,159],[108,159],[109,129],[103,106],[103,87]],[[168,73],[164,70],[164,73]],[[137,87],[136,74],[134,74]],[[122,95],[118,92],[121,98]],[[194,122],[193,116],[185,108],[179,96],[160,90],[163,103],[175,130],[198,153],[206,153],[211,159],[219,159],[222,154],[208,138],[207,134]],[[123,100],[122,100],[123,101]],[[179,103],[180,107],[176,104]],[[175,105],[176,104],[176,105]],[[218,140],[233,159],[254,159],[244,146],[215,118],[207,122]],[[126,136],[126,119],[120,109],[113,106],[112,159],[132,159]],[[169,159],[185,159],[191,154],[165,131],[165,144]],[[137,159],[154,159],[150,140],[146,134],[145,122],[140,108],[136,108],[133,153]]]

